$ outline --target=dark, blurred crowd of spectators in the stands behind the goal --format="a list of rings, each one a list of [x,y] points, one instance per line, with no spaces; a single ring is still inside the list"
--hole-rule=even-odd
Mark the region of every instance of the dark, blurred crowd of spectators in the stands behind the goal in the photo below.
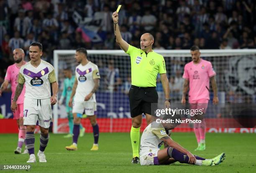
[[[119,4],[121,35],[138,48],[146,32],[154,35],[154,50],[255,48],[254,0],[0,0],[0,83],[12,51],[23,48],[29,60],[34,41],[50,63],[55,49],[119,50],[112,20]],[[170,81],[177,85],[174,76]]]

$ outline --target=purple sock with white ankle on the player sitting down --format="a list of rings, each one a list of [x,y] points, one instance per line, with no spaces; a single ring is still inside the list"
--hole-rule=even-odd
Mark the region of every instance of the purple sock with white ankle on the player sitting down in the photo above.
[[[175,148],[168,147],[167,148],[167,155],[170,158],[174,158],[175,160],[179,161],[179,163],[189,164],[189,162],[188,162],[189,157],[186,154],[179,152]],[[205,160],[205,158],[201,158],[201,157],[198,157],[198,156],[195,156],[195,157],[197,159],[195,165],[202,165],[202,160]]]

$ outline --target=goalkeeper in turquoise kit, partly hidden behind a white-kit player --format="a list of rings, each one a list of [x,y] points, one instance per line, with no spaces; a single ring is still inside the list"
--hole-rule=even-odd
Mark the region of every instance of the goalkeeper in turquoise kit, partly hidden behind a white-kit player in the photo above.
[[[69,106],[69,99],[70,95],[72,93],[72,87],[74,85],[75,76],[72,75],[72,71],[70,68],[64,69],[64,87],[63,92],[61,94],[61,98],[59,99],[59,104],[61,105],[63,103],[64,98],[66,98],[66,111],[67,111],[67,117],[69,120],[69,134],[65,135],[64,138],[71,138],[73,135],[73,114],[72,114],[72,107]],[[80,124],[80,137],[84,136],[84,130],[85,128]]]

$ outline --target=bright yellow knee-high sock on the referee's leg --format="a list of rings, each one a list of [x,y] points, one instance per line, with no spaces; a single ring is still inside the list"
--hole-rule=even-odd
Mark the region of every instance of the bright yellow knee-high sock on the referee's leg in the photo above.
[[[139,128],[134,128],[133,126],[131,127],[131,143],[133,148],[133,158],[139,157],[138,147],[139,147],[139,140],[140,140],[140,129],[141,127]]]

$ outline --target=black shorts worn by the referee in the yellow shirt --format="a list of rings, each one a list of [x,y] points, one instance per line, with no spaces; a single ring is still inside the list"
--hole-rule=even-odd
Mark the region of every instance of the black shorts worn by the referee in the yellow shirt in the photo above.
[[[131,117],[134,118],[142,113],[155,115],[158,103],[156,87],[137,87],[131,85],[129,91]]]

